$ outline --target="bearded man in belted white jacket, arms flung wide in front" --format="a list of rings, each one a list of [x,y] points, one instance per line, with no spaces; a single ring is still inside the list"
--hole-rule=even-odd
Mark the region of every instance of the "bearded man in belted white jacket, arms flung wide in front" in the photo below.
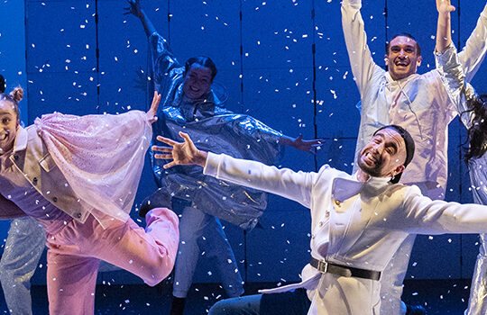
[[[317,173],[293,172],[216,155],[198,150],[187,134],[179,135],[184,142],[158,137],[171,148],[152,147],[162,152],[156,158],[172,159],[165,168],[204,166],[206,175],[276,193],[310,209],[311,262],[303,269],[303,281],[263,292],[305,288],[308,314],[378,315],[381,272],[409,234],[487,231],[487,207],[432,201],[418,186],[396,184],[414,154],[409,132],[397,125],[375,131],[357,158],[360,168],[354,175],[330,166]],[[225,301],[216,305],[210,314],[225,311]]]

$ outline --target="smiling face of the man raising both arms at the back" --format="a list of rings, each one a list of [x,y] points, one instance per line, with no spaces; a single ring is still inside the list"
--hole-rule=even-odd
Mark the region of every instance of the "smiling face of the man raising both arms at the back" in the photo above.
[[[418,55],[416,40],[407,36],[398,36],[391,40],[385,60],[392,79],[400,80],[417,72],[422,57]]]

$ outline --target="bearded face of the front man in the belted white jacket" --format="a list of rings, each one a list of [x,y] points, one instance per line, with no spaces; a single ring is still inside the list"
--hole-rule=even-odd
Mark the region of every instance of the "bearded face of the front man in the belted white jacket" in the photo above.
[[[377,131],[358,157],[358,166],[367,175],[393,177],[404,171],[406,144],[391,128]]]

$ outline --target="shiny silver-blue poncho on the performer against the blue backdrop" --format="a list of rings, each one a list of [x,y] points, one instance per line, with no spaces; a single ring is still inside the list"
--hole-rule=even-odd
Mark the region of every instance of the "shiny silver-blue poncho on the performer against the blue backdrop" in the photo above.
[[[199,149],[268,165],[277,163],[283,154],[279,131],[251,116],[226,110],[213,90],[200,100],[185,97],[184,67],[170,52],[166,40],[153,33],[149,44],[152,69],[149,94],[153,90],[161,94],[158,121],[152,124],[154,144],[158,135],[178,140],[179,131],[184,131]],[[166,163],[152,155],[152,170],[159,186],[168,186],[174,197],[242,229],[253,229],[267,206],[267,194],[262,191],[203,175],[200,166],[164,170],[162,166]]]

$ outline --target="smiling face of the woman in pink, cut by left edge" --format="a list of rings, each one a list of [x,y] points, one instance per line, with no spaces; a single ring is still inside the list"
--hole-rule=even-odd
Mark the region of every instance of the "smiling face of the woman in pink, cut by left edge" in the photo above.
[[[0,101],[0,155],[14,147],[14,140],[19,127],[19,117],[15,111],[15,104]]]

